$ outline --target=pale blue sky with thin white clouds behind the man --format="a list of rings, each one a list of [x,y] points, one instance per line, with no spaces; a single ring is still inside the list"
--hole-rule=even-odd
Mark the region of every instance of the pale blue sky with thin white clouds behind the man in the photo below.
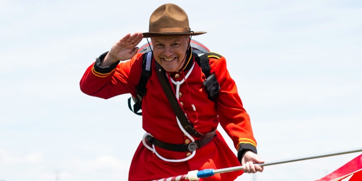
[[[164,3],[226,57],[265,161],[362,147],[361,1],[0,0],[0,180],[127,180],[141,117],[130,95],[90,97],[79,80]],[[317,180],[359,154],[237,180]]]

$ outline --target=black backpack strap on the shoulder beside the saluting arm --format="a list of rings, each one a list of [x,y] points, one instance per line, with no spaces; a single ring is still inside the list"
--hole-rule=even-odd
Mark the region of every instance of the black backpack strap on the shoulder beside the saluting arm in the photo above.
[[[133,105],[133,110],[131,108],[131,97],[128,99],[128,108],[130,108],[130,110],[137,115],[142,115],[142,113],[138,111],[141,110],[142,98],[147,93],[146,84],[151,76],[151,64],[152,64],[152,53],[147,52],[143,55],[142,59],[142,73],[139,83],[136,87],[136,93],[137,93],[136,97],[133,98],[133,101],[135,102],[135,104]]]

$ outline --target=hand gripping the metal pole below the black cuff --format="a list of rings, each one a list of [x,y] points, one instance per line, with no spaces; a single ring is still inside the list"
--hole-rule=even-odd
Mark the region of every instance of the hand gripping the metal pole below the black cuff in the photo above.
[[[243,171],[245,173],[256,173],[264,170],[264,167],[260,167],[258,164],[254,163],[264,163],[264,161],[252,151],[245,152],[241,159],[241,168]]]

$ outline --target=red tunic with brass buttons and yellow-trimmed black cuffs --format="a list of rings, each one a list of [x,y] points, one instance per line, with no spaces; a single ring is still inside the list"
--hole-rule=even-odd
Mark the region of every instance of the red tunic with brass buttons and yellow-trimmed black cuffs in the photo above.
[[[90,95],[101,98],[110,98],[119,94],[131,93],[136,95],[136,85],[142,72],[142,55],[136,54],[130,61],[122,62],[116,68],[100,73],[94,63],[88,67],[80,81],[81,90]],[[193,57],[191,63],[193,63]],[[95,68],[96,67],[96,68]],[[202,82],[205,75],[201,68],[195,66],[186,79],[180,85],[179,102],[187,114],[189,120],[197,131],[202,134],[215,130],[218,124],[233,140],[236,150],[245,145],[256,152],[256,141],[250,124],[249,115],[244,110],[235,82],[231,79],[224,57],[210,57],[211,73],[215,73],[220,84],[220,92],[216,101],[207,98],[207,92]],[[171,108],[166,95],[163,92],[157,73],[155,72],[155,60],[152,61],[152,74],[147,83],[147,93],[142,100],[143,129],[151,133],[156,139],[173,144],[184,144],[187,136],[180,130],[176,121],[176,114]],[[175,81],[184,79],[187,71],[181,73],[169,73]],[[176,76],[179,75],[178,78]],[[173,85],[170,82],[171,85]],[[193,110],[191,104],[196,108]],[[142,135],[139,135],[140,140]],[[199,138],[194,138],[195,140]],[[167,159],[183,159],[190,152],[174,152],[156,147],[156,151]],[[211,142],[196,150],[196,154],[188,161],[171,163],[159,159],[152,151],[139,144],[129,171],[130,181],[156,180],[188,173],[192,170],[220,169],[240,166],[239,160],[227,146],[222,136],[217,136]],[[228,172],[216,174],[201,181],[231,181],[243,172]]]

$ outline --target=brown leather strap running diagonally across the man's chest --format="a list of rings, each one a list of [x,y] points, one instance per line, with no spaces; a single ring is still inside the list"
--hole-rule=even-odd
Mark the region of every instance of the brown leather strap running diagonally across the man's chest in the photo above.
[[[180,104],[178,104],[176,97],[172,93],[168,78],[166,77],[165,70],[157,62],[155,62],[155,64],[156,64],[156,72],[160,79],[163,91],[165,92],[173,111],[175,112],[178,120],[180,121],[181,126],[190,135],[195,136],[197,138],[204,138],[204,137],[210,137],[211,135],[215,135],[215,130],[208,132],[206,134],[201,134],[194,128],[194,126],[190,123],[189,119],[186,117],[184,111],[181,109]]]

